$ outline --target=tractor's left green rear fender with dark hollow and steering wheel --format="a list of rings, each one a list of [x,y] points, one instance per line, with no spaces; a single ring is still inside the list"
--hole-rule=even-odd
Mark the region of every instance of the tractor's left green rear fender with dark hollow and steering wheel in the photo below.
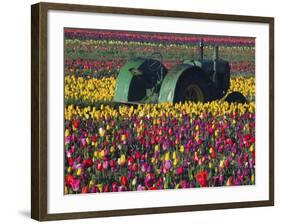
[[[117,78],[118,91],[115,91],[113,100],[124,103],[157,103],[161,83],[167,72],[162,64],[162,56],[158,53],[149,58],[131,59],[121,68]]]

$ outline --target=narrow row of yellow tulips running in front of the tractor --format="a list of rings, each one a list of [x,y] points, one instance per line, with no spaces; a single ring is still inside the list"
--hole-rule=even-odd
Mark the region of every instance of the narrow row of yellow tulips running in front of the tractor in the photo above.
[[[142,117],[152,117],[158,118],[161,116],[175,116],[176,118],[181,115],[196,115],[204,117],[206,114],[211,114],[216,116],[221,114],[236,114],[243,115],[246,112],[254,113],[255,112],[255,103],[251,102],[248,104],[229,104],[227,102],[213,101],[209,103],[194,103],[194,102],[185,102],[185,103],[159,103],[159,104],[145,104],[138,106],[126,106],[119,105],[117,108],[110,105],[100,106],[85,106],[80,107],[77,105],[68,105],[65,107],[65,120],[79,119],[80,117],[86,119],[107,119],[119,118],[119,117],[131,117],[137,116]],[[157,120],[159,122],[159,120]],[[235,121],[233,121],[235,124]]]

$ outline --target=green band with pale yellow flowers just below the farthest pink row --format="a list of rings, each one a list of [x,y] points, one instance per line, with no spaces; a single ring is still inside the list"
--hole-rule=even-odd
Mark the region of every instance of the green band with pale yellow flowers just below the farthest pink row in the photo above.
[[[186,60],[199,58],[199,45],[177,45],[106,40],[66,40],[67,59],[128,60],[136,56],[149,57],[160,52],[164,60]],[[213,45],[204,47],[205,58],[213,57]],[[228,61],[253,61],[255,47],[219,45],[219,57]]]

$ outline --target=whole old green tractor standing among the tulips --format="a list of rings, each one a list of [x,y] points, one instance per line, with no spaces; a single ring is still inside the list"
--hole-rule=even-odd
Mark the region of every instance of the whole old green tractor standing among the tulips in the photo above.
[[[226,96],[230,87],[230,65],[220,59],[214,46],[213,59],[204,59],[200,41],[199,60],[185,60],[168,71],[160,53],[136,57],[121,67],[116,81],[114,102],[145,104],[186,101],[210,102]],[[225,97],[229,103],[246,103],[240,92]]]

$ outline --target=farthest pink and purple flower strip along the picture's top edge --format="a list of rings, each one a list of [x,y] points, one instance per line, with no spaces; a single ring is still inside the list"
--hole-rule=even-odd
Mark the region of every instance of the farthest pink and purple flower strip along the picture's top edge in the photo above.
[[[129,31],[112,31],[112,30],[85,30],[85,29],[64,29],[66,39],[79,40],[122,40],[138,42],[166,42],[173,44],[198,44],[202,36],[175,34],[175,33],[145,33]],[[254,38],[246,37],[212,37],[204,36],[206,44],[220,45],[243,45],[254,46]]]

